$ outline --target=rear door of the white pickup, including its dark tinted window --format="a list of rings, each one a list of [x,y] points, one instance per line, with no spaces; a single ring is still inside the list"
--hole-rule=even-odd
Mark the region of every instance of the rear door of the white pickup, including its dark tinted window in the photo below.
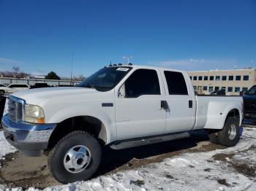
[[[195,95],[188,88],[189,77],[180,71],[164,69],[162,77],[169,107],[165,133],[191,130],[195,124]]]

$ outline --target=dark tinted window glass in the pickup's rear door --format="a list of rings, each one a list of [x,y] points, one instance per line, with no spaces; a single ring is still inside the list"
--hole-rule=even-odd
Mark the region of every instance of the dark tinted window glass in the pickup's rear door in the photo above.
[[[184,76],[178,71],[164,71],[170,95],[188,95]]]

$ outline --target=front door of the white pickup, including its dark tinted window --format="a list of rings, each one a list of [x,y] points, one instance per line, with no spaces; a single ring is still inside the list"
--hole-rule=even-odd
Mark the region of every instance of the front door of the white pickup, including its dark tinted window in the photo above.
[[[160,71],[137,69],[116,87],[117,139],[133,139],[164,133],[166,112]]]

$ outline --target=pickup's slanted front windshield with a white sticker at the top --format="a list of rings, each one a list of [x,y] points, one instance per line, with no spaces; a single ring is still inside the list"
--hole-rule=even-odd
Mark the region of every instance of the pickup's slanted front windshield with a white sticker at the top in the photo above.
[[[89,87],[98,91],[112,90],[131,69],[131,67],[126,66],[100,69],[80,82],[78,87]]]

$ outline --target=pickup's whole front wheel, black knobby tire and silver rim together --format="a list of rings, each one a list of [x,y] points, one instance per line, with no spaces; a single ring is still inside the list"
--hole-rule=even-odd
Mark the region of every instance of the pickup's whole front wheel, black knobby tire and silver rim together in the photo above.
[[[102,152],[93,136],[76,130],[64,136],[48,155],[53,177],[63,183],[89,179],[99,167]]]

